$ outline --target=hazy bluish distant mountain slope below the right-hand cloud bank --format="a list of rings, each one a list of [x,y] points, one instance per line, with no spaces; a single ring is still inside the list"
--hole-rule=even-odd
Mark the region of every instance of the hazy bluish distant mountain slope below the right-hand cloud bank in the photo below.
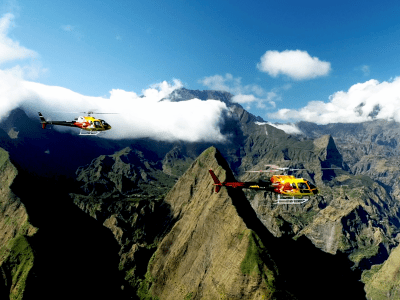
[[[299,122],[297,126],[311,138],[332,135],[353,174],[368,175],[382,183],[392,197],[400,199],[399,123],[385,120],[328,125]]]

